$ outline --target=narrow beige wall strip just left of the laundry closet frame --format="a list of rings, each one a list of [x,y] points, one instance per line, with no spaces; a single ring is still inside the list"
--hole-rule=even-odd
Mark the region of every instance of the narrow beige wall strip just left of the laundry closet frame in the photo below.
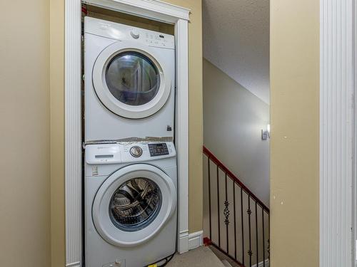
[[[50,1],[50,56],[51,266],[64,267],[64,0]]]

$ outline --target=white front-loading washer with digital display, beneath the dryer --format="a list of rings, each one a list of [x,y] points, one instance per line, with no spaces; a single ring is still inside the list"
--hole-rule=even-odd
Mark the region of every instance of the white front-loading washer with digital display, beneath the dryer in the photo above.
[[[143,267],[176,251],[172,142],[86,145],[86,267]]]

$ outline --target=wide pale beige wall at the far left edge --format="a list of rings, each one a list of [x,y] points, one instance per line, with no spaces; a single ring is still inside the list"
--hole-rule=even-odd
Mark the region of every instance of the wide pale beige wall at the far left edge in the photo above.
[[[6,1],[0,16],[0,265],[50,257],[49,3]]]

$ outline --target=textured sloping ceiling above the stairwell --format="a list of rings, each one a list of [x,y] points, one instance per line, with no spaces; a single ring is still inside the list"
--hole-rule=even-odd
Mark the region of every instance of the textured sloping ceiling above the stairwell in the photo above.
[[[203,0],[203,56],[269,103],[269,1]]]

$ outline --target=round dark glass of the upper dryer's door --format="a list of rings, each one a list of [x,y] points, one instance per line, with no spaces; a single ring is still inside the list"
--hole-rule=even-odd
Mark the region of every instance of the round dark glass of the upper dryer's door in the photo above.
[[[160,88],[159,70],[150,58],[138,52],[123,52],[109,61],[106,85],[117,100],[126,105],[144,105]]]

